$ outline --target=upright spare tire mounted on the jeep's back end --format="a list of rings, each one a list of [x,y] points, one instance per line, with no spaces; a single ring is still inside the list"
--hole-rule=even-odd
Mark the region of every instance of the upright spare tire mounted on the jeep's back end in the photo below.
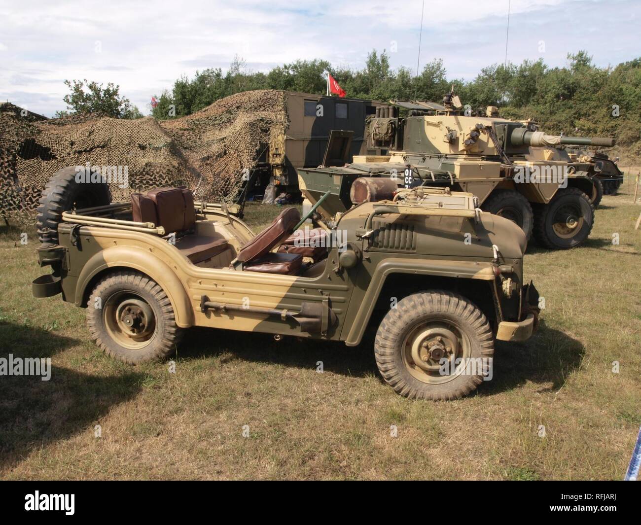
[[[74,166],[57,171],[42,190],[36,226],[38,239],[43,244],[58,244],[58,224],[62,221],[62,212],[105,206],[112,201],[106,181],[77,182],[76,173]]]

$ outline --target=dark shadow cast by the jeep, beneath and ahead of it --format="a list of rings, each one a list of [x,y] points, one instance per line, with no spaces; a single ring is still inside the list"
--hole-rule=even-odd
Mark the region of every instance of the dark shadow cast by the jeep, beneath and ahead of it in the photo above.
[[[231,353],[240,359],[275,363],[287,367],[315,369],[323,362],[326,372],[350,377],[383,378],[374,360],[375,331],[369,329],[359,346],[346,347],[342,342],[283,338],[274,341],[269,334],[233,332],[206,328],[190,329],[179,354],[181,358]],[[545,385],[545,390],[558,389],[576,369],[583,357],[583,345],[562,331],[540,322],[537,333],[526,342],[497,342],[493,378],[479,390],[480,395],[493,395],[524,385],[528,381]]]

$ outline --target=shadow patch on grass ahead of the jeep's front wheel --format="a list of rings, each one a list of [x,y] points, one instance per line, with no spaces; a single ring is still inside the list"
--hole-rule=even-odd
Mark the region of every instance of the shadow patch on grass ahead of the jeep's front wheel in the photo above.
[[[558,390],[578,369],[585,354],[583,344],[562,331],[549,328],[542,319],[537,333],[528,341],[495,344],[492,381],[485,381],[479,395],[491,396],[524,385],[527,381],[546,385],[540,392]]]

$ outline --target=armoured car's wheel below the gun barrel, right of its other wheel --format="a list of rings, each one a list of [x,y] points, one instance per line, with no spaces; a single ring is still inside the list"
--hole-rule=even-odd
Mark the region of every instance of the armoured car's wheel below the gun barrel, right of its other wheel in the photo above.
[[[545,247],[568,249],[587,239],[593,224],[588,196],[578,188],[563,188],[549,204],[537,206],[534,235]]]

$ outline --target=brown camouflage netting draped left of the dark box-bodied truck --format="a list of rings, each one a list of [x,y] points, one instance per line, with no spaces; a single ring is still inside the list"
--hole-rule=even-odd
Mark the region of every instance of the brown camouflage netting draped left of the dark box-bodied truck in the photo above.
[[[0,214],[33,215],[56,171],[87,163],[118,167],[119,177],[113,172],[110,180],[114,201],[184,184],[197,199],[231,202],[242,187],[243,170],[251,169],[270,143],[281,142],[287,124],[285,94],[274,90],[238,93],[167,121],[101,115],[43,120],[2,104]],[[127,187],[122,187],[124,173]]]

